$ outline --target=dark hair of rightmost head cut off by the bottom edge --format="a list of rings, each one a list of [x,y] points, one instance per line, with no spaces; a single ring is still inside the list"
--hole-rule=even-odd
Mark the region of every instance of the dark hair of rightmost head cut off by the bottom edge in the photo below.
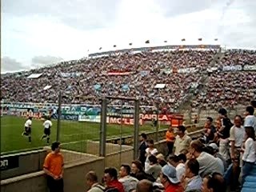
[[[226,182],[222,174],[213,173],[208,174],[206,177],[208,179],[207,187],[208,189],[213,189],[214,192],[226,192]]]

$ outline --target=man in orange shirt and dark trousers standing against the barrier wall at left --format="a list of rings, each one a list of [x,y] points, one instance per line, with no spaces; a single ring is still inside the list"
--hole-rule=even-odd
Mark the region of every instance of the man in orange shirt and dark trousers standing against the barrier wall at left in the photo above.
[[[47,186],[50,192],[63,192],[63,156],[60,153],[60,143],[53,142],[52,152],[47,154],[43,171],[47,174]]]

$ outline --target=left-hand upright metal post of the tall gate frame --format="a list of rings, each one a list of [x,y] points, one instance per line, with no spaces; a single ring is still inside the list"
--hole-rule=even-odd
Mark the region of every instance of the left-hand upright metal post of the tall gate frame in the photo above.
[[[106,157],[106,98],[102,98],[99,156]]]

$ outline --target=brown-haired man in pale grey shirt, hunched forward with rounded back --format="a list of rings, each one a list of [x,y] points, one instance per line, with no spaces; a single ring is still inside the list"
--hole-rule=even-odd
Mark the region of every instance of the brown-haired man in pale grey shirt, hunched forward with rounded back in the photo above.
[[[222,168],[219,166],[217,158],[213,155],[203,152],[204,146],[199,140],[194,140],[190,144],[190,157],[196,158],[199,162],[199,174],[203,178],[206,174],[217,172],[222,174]]]

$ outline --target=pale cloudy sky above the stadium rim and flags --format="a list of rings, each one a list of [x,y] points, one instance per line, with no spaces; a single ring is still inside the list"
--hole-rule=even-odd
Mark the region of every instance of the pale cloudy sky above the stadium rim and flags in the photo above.
[[[254,0],[2,0],[3,72],[98,51],[214,42],[256,49]],[[89,50],[89,52],[88,52]]]

